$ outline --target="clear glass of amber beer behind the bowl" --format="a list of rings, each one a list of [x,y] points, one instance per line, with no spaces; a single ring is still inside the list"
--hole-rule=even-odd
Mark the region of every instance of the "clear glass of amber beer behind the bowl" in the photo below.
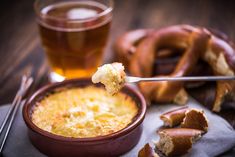
[[[102,63],[112,0],[36,0],[41,42],[53,82],[90,77]]]

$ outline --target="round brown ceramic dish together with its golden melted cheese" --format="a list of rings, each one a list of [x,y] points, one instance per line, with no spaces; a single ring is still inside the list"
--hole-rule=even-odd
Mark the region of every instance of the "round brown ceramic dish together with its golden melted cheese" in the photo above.
[[[120,156],[138,143],[145,113],[135,88],[111,95],[91,78],[48,84],[23,107],[31,143],[56,157]]]

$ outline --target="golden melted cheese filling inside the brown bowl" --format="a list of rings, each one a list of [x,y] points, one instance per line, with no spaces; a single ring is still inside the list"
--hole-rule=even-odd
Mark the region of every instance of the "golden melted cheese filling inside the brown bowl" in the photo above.
[[[32,121],[39,128],[65,137],[96,137],[125,128],[138,107],[123,93],[114,96],[103,88],[65,89],[38,102]]]

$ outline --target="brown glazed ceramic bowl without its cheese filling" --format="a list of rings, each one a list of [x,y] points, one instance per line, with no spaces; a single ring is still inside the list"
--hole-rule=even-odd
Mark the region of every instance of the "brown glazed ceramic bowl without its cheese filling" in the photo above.
[[[44,131],[32,122],[31,114],[36,102],[47,94],[61,88],[84,87],[91,84],[90,79],[66,80],[46,85],[29,98],[23,108],[23,117],[28,127],[29,138],[39,151],[56,157],[112,157],[128,152],[138,143],[142,133],[146,103],[143,96],[129,86],[125,86],[121,92],[134,99],[139,108],[138,114],[127,127],[115,133],[91,138],[69,138]]]

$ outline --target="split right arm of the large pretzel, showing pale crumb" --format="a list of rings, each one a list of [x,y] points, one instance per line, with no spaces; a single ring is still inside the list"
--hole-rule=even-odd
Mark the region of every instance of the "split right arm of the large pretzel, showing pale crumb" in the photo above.
[[[231,43],[211,34],[208,49],[202,58],[210,64],[215,75],[235,75],[235,51]],[[227,96],[234,99],[235,81],[217,81],[213,111],[220,111]]]

